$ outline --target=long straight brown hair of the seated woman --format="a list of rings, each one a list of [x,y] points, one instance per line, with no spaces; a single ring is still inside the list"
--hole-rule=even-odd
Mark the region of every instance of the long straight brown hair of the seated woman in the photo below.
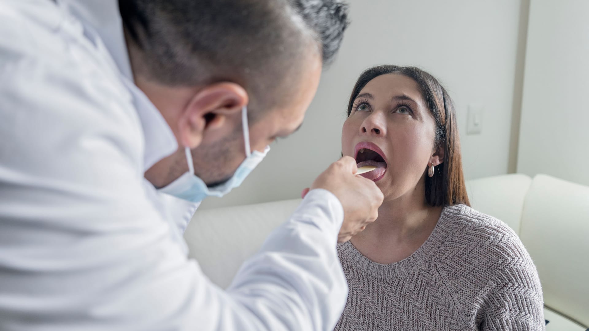
[[[378,65],[366,69],[360,74],[350,95],[348,116],[362,88],[375,77],[385,74],[403,75],[414,80],[421,88],[423,98],[436,121],[435,144],[444,147],[444,162],[435,167],[434,177],[425,177],[426,203],[429,206],[452,206],[461,203],[470,206],[462,172],[462,154],[454,102],[434,76],[416,67]]]

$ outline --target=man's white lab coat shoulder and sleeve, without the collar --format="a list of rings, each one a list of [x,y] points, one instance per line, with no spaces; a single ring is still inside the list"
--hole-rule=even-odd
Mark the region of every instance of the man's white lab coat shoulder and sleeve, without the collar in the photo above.
[[[335,325],[346,297],[335,196],[310,192],[220,289],[149,198],[127,90],[91,45],[55,38],[77,26],[0,12],[0,330]]]

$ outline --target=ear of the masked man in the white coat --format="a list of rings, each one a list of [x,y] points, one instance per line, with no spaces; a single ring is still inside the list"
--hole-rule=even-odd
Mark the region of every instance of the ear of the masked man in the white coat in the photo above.
[[[219,82],[199,90],[178,118],[180,144],[196,148],[205,134],[227,130],[227,118],[240,115],[247,102],[246,90],[232,82]]]

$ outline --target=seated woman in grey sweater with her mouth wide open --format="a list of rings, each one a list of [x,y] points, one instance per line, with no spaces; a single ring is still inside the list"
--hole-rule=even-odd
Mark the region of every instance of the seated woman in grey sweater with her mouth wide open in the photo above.
[[[517,234],[469,207],[454,105],[418,68],[360,75],[342,150],[376,182],[379,217],[339,244],[349,296],[336,330],[544,330]]]

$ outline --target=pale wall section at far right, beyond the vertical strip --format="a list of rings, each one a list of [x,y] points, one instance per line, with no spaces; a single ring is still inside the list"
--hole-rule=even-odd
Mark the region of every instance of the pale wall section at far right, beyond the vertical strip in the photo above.
[[[589,185],[589,1],[532,0],[518,172]]]

